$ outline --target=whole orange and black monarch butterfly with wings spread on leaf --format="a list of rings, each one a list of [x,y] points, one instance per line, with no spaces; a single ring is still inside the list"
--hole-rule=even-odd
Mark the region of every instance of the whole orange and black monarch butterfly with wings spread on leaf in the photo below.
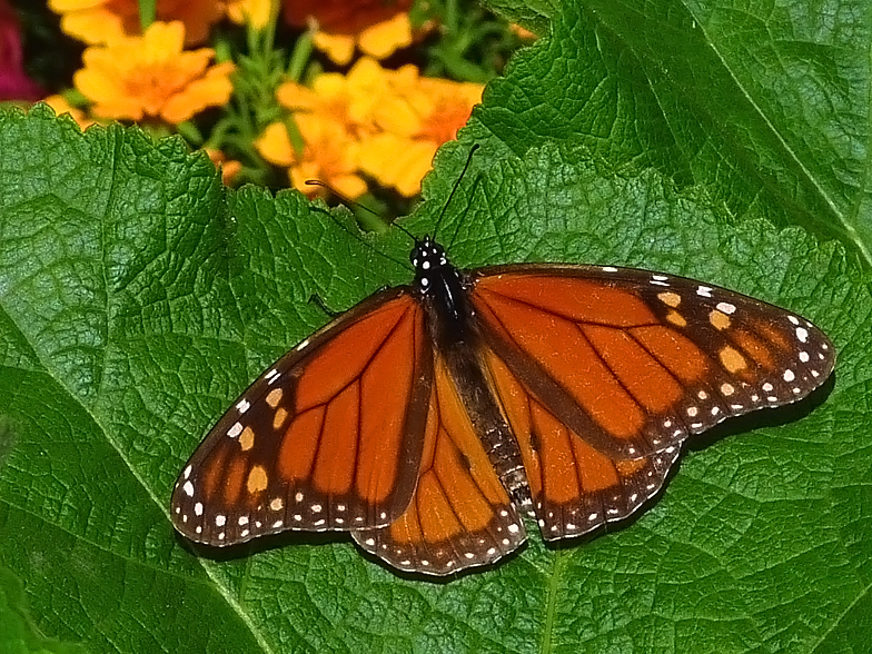
[[[349,531],[402,571],[489,564],[526,539],[524,514],[548,541],[630,516],[691,434],[833,369],[809,320],[692,279],[462,271],[429,237],[410,260],[412,285],[306,338],[218,420],[172,493],[181,534]]]

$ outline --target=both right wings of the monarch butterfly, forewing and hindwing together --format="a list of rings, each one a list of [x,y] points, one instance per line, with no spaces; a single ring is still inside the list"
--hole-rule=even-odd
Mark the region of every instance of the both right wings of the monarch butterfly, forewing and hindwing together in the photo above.
[[[547,539],[627,517],[690,434],[800,399],[833,367],[807,320],[690,279],[504,266],[470,286]]]

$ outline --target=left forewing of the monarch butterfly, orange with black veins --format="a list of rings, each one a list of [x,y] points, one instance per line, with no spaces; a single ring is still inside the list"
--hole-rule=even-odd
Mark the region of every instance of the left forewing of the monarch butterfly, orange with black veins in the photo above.
[[[390,524],[423,449],[433,375],[423,320],[406,289],[383,291],[270,367],[185,466],[176,527],[220,546]]]

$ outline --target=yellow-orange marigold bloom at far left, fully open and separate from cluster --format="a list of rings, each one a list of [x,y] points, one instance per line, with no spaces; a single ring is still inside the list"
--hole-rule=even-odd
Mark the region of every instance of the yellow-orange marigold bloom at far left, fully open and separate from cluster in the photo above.
[[[85,51],[85,68],[73,81],[91,100],[93,115],[141,120],[161,118],[171,125],[207,107],[227,103],[232,92],[232,63],[209,67],[211,48],[182,51],[185,27],[156,22],[142,37]]]

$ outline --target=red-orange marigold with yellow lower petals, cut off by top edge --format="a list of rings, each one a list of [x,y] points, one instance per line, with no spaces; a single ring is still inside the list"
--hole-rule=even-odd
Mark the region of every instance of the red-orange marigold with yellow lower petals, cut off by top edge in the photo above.
[[[339,66],[351,61],[355,47],[384,59],[413,42],[412,0],[285,0],[285,20],[295,27],[318,26],[313,42]]]

